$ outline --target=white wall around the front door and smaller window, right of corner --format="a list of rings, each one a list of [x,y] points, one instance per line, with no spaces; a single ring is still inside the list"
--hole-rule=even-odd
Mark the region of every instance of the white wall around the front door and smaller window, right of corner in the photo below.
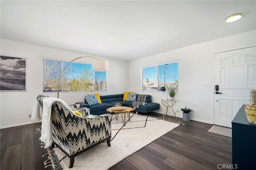
[[[165,107],[162,106],[161,99],[166,98],[166,92],[142,92],[138,73],[144,66],[178,60],[179,92],[175,96],[177,102],[174,111],[187,106],[194,110],[191,119],[214,123],[214,53],[250,45],[256,45],[256,30],[130,61],[129,91],[152,95],[152,102],[160,103],[160,110],[157,112],[164,113]],[[211,86],[204,87],[204,83],[210,83]],[[182,117],[182,111],[176,115]]]

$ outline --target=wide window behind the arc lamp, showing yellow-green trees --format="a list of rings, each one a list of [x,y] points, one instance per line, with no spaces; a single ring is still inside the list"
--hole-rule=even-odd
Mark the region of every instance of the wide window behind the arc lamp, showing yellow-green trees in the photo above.
[[[43,59],[43,92],[56,92],[60,72],[69,62]],[[70,63],[60,78],[60,92],[106,91],[106,72],[92,71],[92,64]]]

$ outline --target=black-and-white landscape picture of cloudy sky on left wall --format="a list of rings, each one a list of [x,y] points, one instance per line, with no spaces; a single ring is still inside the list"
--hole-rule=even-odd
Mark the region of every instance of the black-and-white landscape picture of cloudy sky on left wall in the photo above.
[[[26,59],[0,55],[0,91],[26,91]]]

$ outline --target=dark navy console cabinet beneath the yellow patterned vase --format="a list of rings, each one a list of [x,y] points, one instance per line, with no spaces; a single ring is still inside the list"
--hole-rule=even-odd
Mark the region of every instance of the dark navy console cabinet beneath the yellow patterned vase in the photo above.
[[[232,121],[232,166],[240,170],[256,166],[256,125],[247,120],[245,106]]]

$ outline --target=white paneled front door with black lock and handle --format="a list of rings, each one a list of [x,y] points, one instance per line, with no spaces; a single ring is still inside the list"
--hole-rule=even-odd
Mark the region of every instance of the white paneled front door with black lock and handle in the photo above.
[[[231,127],[240,107],[250,100],[250,90],[256,89],[256,47],[215,53],[214,59],[214,124]]]

